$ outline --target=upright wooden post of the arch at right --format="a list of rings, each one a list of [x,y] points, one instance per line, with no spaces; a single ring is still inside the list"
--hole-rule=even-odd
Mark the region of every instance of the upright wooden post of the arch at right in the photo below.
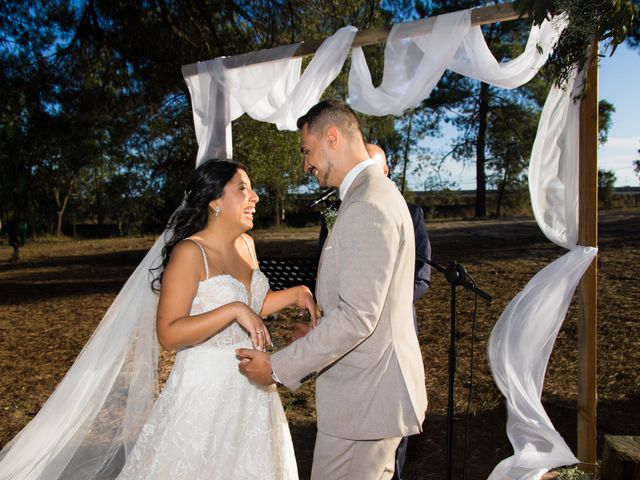
[[[587,90],[580,105],[580,204],[578,243],[598,246],[598,42],[587,72]],[[596,318],[598,257],[578,288],[578,458],[596,465]]]

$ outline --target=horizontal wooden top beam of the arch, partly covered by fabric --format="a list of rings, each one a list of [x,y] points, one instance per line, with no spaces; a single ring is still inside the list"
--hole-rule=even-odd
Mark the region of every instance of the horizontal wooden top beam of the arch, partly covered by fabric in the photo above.
[[[431,17],[431,19],[436,17]],[[500,5],[491,5],[489,7],[474,8],[471,10],[471,25],[486,25],[489,23],[506,22],[509,20],[515,20],[520,18],[513,8],[512,3],[505,3]],[[421,19],[412,22],[406,22],[407,28],[411,34],[424,34],[430,31],[432,20]],[[384,43],[391,31],[391,25],[383,27],[370,28],[368,30],[359,31],[356,33],[352,47],[364,47],[367,45],[376,45],[378,43]],[[313,55],[324,40],[304,41],[297,44],[287,45],[285,48],[276,47],[265,50],[259,50],[257,52],[243,53],[240,55],[233,55],[225,57],[224,64],[227,68],[235,68],[245,65],[252,65],[256,63],[262,63],[265,61],[282,60],[285,58],[291,58],[288,53],[289,50],[286,47],[296,47],[293,57],[306,57]],[[259,54],[256,59],[256,54]],[[182,75],[188,77],[198,73],[198,64],[191,63],[183,65]]]

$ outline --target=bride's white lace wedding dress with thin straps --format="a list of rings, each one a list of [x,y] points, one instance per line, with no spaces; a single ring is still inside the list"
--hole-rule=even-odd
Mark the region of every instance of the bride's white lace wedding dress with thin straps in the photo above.
[[[251,308],[259,312],[269,282],[257,265],[248,293],[230,275],[209,277],[202,253],[207,279],[198,286],[191,314],[234,301],[251,302]],[[208,340],[178,351],[166,386],[118,479],[298,478],[276,387],[256,385],[242,375],[236,348],[253,346],[249,335],[234,322]]]

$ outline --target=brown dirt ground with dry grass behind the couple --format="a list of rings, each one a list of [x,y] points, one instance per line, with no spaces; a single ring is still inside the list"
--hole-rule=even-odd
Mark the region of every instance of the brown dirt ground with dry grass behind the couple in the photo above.
[[[508,302],[540,269],[564,253],[530,218],[429,222],[433,260],[463,264],[480,288],[495,296],[478,302],[458,290],[457,375],[454,395],[453,478],[485,479],[511,454],[504,401],[487,363],[491,329]],[[600,215],[598,259],[598,458],[605,434],[640,435],[640,211]],[[262,257],[312,256],[318,229],[256,231]],[[0,246],[0,445],[31,419],[96,327],[152,238],[29,242],[22,261],[8,262]],[[446,468],[450,287],[434,272],[417,307],[427,373],[429,413],[412,437],[403,478],[441,479]],[[577,296],[547,369],[543,404],[560,434],[576,449]],[[277,344],[287,314],[270,320]],[[472,340],[473,343],[472,343]],[[473,377],[471,359],[473,352]],[[163,373],[171,355],[163,355]],[[300,476],[308,478],[315,437],[313,385],[281,390]],[[468,413],[467,413],[468,412]]]

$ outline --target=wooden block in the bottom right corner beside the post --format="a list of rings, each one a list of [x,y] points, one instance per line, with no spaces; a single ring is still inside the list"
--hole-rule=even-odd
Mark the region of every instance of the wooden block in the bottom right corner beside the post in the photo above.
[[[640,437],[605,435],[602,480],[640,480]]]

